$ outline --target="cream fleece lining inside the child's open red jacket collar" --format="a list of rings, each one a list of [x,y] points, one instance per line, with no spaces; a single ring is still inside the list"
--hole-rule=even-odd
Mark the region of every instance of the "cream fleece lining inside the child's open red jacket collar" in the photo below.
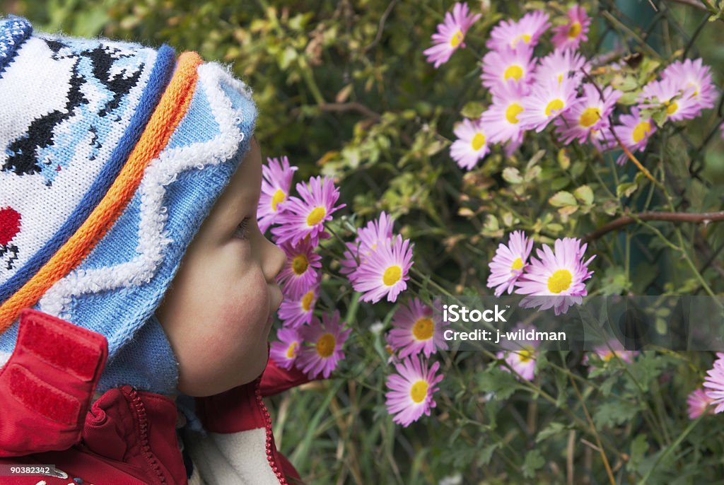
[[[266,429],[209,433],[185,442],[195,468],[208,485],[279,485],[266,459]]]

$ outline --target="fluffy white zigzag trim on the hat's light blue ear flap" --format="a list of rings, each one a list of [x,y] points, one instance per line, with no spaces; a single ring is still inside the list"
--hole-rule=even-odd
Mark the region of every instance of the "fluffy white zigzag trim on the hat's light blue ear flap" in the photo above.
[[[138,224],[138,256],[131,261],[98,269],[77,269],[51,287],[40,301],[41,310],[59,318],[65,314],[72,297],[87,293],[116,290],[120,287],[140,286],[156,274],[164,258],[164,249],[172,240],[166,236],[166,208],[162,206],[167,186],[178,174],[188,169],[224,163],[235,155],[244,134],[237,125],[243,112],[232,107],[220,83],[224,82],[249,96],[244,83],[234,79],[219,64],[208,63],[198,67],[198,82],[203,85],[211,111],[221,133],[213,140],[191,146],[167,148],[159,158],[146,167],[138,193],[141,195],[140,222]],[[114,348],[112,342],[109,347]]]

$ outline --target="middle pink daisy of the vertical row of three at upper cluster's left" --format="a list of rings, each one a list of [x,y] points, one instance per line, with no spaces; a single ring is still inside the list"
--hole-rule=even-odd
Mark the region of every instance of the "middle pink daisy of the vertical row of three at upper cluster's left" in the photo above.
[[[499,51],[489,51],[483,56],[483,73],[480,78],[486,88],[496,93],[508,84],[529,85],[535,68],[533,48],[521,46],[513,50],[504,47]]]

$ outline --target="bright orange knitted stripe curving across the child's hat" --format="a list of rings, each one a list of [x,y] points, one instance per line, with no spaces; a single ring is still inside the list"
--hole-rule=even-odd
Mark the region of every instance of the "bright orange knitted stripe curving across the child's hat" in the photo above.
[[[17,319],[23,308],[38,303],[50,287],[75,269],[125,210],[143,179],[146,166],[167,146],[186,114],[198,80],[196,69],[202,62],[195,52],[179,56],[174,75],[159,105],[101,203],[40,271],[0,305],[0,333]]]

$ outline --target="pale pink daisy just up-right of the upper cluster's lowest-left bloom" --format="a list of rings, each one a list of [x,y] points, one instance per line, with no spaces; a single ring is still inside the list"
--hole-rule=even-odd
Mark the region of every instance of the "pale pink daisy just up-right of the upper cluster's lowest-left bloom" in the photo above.
[[[480,117],[480,125],[488,135],[489,143],[510,142],[515,146],[513,151],[523,142],[523,124],[520,114],[523,108],[523,97],[526,88],[515,83],[508,83],[493,93],[493,103]],[[510,155],[509,155],[510,156]]]

